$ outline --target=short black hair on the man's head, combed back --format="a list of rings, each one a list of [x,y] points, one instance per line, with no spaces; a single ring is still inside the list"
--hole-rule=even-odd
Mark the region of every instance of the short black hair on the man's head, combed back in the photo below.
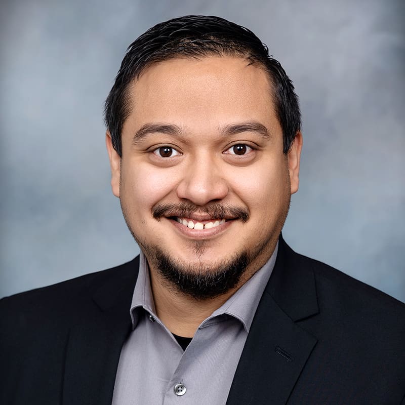
[[[107,100],[104,119],[112,145],[121,156],[121,131],[131,113],[129,86],[147,67],[175,58],[237,56],[264,68],[273,86],[273,102],[287,153],[301,128],[294,86],[280,63],[248,28],[215,16],[184,16],[156,24],[128,47]]]

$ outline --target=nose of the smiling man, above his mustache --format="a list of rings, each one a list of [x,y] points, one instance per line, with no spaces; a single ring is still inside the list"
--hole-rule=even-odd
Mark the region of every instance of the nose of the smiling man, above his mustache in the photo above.
[[[193,156],[177,187],[177,196],[201,207],[210,201],[225,198],[228,186],[218,166],[215,158],[210,158],[207,154]]]

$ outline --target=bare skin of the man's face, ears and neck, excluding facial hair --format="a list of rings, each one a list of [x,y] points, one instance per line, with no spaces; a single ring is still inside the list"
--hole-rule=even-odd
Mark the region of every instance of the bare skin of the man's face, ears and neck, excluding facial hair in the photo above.
[[[159,246],[188,271],[215,270],[242,250],[255,257],[234,289],[196,300],[168,285],[156,271],[153,255],[143,249],[157,315],[171,332],[193,336],[273,253],[290,196],[298,190],[302,135],[297,133],[287,155],[282,152],[269,79],[264,70],[238,57],[156,63],[132,85],[131,105],[121,135],[122,157],[108,132],[106,145],[112,191],[140,246]],[[242,123],[258,123],[268,134],[251,129],[226,133],[229,126]],[[134,140],[148,124],[176,126],[179,133],[144,131]],[[246,145],[246,153],[235,154],[235,145]],[[213,203],[243,208],[250,216],[246,222],[234,219],[203,230],[153,218],[156,204],[183,201],[195,206],[189,219],[209,222],[200,209]]]

